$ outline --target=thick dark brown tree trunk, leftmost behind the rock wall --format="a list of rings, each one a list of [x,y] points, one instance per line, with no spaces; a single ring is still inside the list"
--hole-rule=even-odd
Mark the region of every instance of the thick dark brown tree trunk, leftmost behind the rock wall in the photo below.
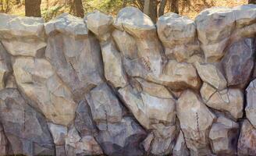
[[[26,16],[41,17],[41,0],[25,0]]]

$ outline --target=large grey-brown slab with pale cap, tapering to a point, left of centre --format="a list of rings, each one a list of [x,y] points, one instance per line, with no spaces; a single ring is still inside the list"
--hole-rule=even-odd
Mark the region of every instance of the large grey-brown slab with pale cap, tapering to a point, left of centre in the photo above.
[[[44,27],[49,36],[45,56],[71,88],[75,100],[80,101],[91,88],[103,82],[100,45],[88,33],[84,20],[66,13]]]

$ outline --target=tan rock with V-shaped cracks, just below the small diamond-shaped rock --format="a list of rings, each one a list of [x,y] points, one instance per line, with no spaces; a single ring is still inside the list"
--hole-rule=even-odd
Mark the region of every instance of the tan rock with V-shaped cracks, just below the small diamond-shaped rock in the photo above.
[[[240,89],[228,88],[218,91],[208,83],[204,83],[200,92],[201,97],[208,107],[229,112],[234,119],[243,117],[244,94]]]

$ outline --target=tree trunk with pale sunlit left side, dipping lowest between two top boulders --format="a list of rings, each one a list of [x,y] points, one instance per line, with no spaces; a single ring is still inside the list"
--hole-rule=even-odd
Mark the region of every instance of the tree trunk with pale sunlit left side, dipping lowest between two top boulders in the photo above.
[[[156,23],[158,18],[158,2],[157,0],[145,0],[143,12],[148,15],[151,20]]]

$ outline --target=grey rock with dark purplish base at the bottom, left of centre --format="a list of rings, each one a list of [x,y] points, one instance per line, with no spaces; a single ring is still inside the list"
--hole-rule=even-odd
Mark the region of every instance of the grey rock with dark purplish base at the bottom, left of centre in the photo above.
[[[141,155],[140,143],[146,137],[144,129],[130,117],[125,117],[124,108],[106,83],[87,94],[91,115],[99,132],[98,144],[108,155]]]

